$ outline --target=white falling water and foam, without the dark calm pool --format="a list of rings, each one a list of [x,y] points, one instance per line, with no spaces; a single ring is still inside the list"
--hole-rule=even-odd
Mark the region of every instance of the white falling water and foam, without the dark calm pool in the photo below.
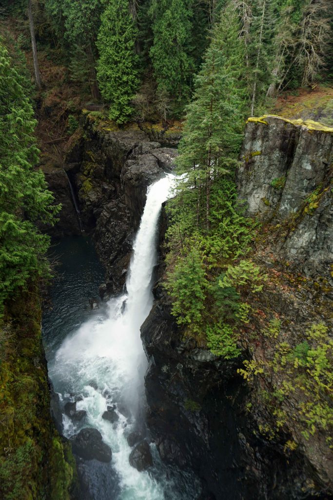
[[[140,326],[152,307],[152,272],[156,264],[156,228],[161,204],[171,191],[169,174],[148,188],[147,201],[133,246],[127,278],[127,293],[107,303],[106,315],[94,315],[65,339],[49,365],[50,377],[60,398],[80,399],[77,410],[86,411],[84,421],[63,416],[64,434],[71,437],[80,428],[95,427],[112,448],[111,465],[117,473],[121,500],[160,500],[162,486],[148,472],[129,464],[131,449],[126,436],[135,428],[136,394],[142,393],[142,367],[146,358]],[[73,396],[74,395],[74,396]],[[78,397],[80,396],[80,397]],[[102,418],[107,405],[115,404],[119,420]],[[132,413],[121,413],[122,406]],[[124,411],[126,413],[126,411]]]

